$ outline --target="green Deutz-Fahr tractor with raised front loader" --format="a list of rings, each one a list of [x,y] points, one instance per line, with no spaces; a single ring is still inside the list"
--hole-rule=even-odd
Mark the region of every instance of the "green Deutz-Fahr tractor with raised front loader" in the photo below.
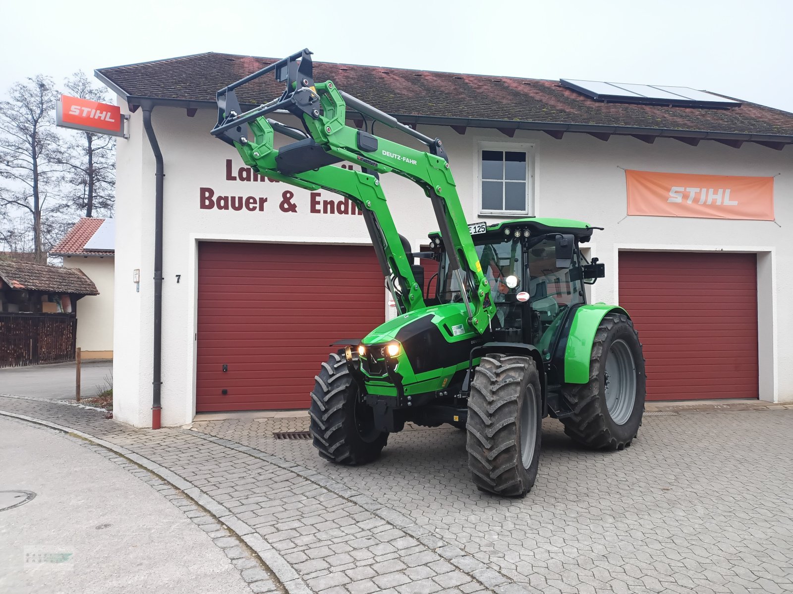
[[[236,89],[268,72],[285,91],[243,111]],[[524,496],[537,476],[546,416],[583,446],[630,446],[644,411],[642,345],[626,311],[586,303],[585,285],[605,274],[580,251],[596,227],[549,218],[469,225],[442,141],[331,81],[315,83],[308,50],[221,89],[217,103],[213,135],[257,172],[355,202],[397,308],[366,337],[331,345],[337,349],[316,376],[309,409],[320,456],[366,464],[406,422],[450,423],[467,432],[478,488]],[[266,118],[284,110],[302,130]],[[347,126],[347,110],[408,133],[427,151]],[[276,149],[274,132],[295,142]],[[335,167],[341,161],[362,171]],[[414,252],[397,233],[379,183],[388,172],[431,201],[439,225],[431,249]]]

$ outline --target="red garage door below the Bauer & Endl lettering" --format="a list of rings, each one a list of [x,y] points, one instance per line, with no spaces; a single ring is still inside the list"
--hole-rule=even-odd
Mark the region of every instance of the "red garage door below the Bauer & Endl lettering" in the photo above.
[[[383,291],[371,247],[202,242],[196,410],[307,408],[328,345],[384,321]]]

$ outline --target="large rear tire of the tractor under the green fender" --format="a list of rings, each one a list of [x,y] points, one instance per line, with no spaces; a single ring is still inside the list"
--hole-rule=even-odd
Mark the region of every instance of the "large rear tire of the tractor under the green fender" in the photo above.
[[[560,419],[573,441],[592,449],[625,449],[642,425],[645,360],[633,322],[625,314],[603,317],[592,342],[588,384],[564,384],[573,415]]]

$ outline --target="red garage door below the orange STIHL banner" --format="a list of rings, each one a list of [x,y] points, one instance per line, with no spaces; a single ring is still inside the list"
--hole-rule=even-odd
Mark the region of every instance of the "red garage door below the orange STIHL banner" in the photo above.
[[[620,252],[619,304],[647,360],[647,399],[757,398],[757,257]]]

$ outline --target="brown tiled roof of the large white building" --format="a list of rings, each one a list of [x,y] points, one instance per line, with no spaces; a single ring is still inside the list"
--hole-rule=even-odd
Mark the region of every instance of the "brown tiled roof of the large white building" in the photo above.
[[[207,52],[169,60],[129,64],[97,71],[132,104],[140,98],[215,102],[220,88],[263,68],[272,58]],[[404,122],[448,125],[488,125],[592,131],[611,127],[615,133],[641,129],[711,133],[708,137],[758,135],[757,140],[793,140],[793,114],[743,102],[729,109],[604,103],[561,86],[557,80],[523,79],[454,72],[415,71],[351,64],[315,62],[314,78],[332,79],[336,86],[393,114]],[[674,83],[675,81],[671,81]],[[239,89],[241,102],[259,104],[282,92],[271,74]],[[581,128],[583,127],[583,128]],[[632,131],[626,132],[625,129]],[[723,136],[722,136],[723,135]]]

